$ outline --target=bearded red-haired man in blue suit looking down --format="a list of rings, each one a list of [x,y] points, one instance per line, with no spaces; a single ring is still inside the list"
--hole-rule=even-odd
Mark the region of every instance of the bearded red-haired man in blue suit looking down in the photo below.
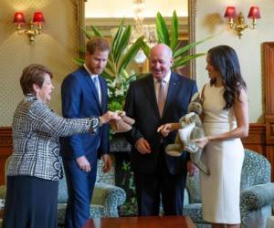
[[[108,89],[100,76],[107,64],[110,46],[95,37],[86,46],[85,64],[63,81],[62,112],[65,118],[101,116],[107,111]],[[68,184],[67,228],[81,228],[90,217],[90,200],[96,181],[97,159],[104,161],[102,171],[110,171],[109,126],[95,135],[79,134],[61,140],[61,154]]]

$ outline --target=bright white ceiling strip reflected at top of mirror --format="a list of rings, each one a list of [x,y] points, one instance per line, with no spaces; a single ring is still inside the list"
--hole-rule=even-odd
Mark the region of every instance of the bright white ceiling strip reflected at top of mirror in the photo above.
[[[134,17],[132,0],[88,0],[85,17]],[[176,10],[177,16],[188,16],[187,0],[146,0],[144,2],[144,17],[154,17],[157,12],[163,16],[172,16]]]

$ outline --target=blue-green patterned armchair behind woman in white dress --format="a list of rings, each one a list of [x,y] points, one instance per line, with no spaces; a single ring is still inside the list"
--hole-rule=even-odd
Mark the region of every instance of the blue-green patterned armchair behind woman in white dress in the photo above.
[[[271,167],[262,155],[245,150],[241,173],[240,211],[242,228],[264,228],[274,202]],[[197,227],[211,227],[202,216],[199,175],[188,177],[184,192],[184,214],[190,215]]]

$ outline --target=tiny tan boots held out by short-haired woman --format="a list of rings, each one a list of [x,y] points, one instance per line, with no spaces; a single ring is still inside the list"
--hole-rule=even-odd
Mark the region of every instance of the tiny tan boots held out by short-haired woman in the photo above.
[[[121,117],[121,119],[111,120],[111,130],[113,130],[115,133],[132,130],[132,125],[134,124],[135,120],[127,117],[124,111],[118,110],[116,113]]]

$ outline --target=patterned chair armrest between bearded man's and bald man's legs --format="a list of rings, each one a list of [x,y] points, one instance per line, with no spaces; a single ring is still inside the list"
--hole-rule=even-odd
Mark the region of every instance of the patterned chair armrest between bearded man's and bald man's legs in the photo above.
[[[126,193],[120,187],[107,184],[96,183],[92,194],[91,204],[104,206],[104,214],[109,217],[117,217],[117,207],[126,200]]]

